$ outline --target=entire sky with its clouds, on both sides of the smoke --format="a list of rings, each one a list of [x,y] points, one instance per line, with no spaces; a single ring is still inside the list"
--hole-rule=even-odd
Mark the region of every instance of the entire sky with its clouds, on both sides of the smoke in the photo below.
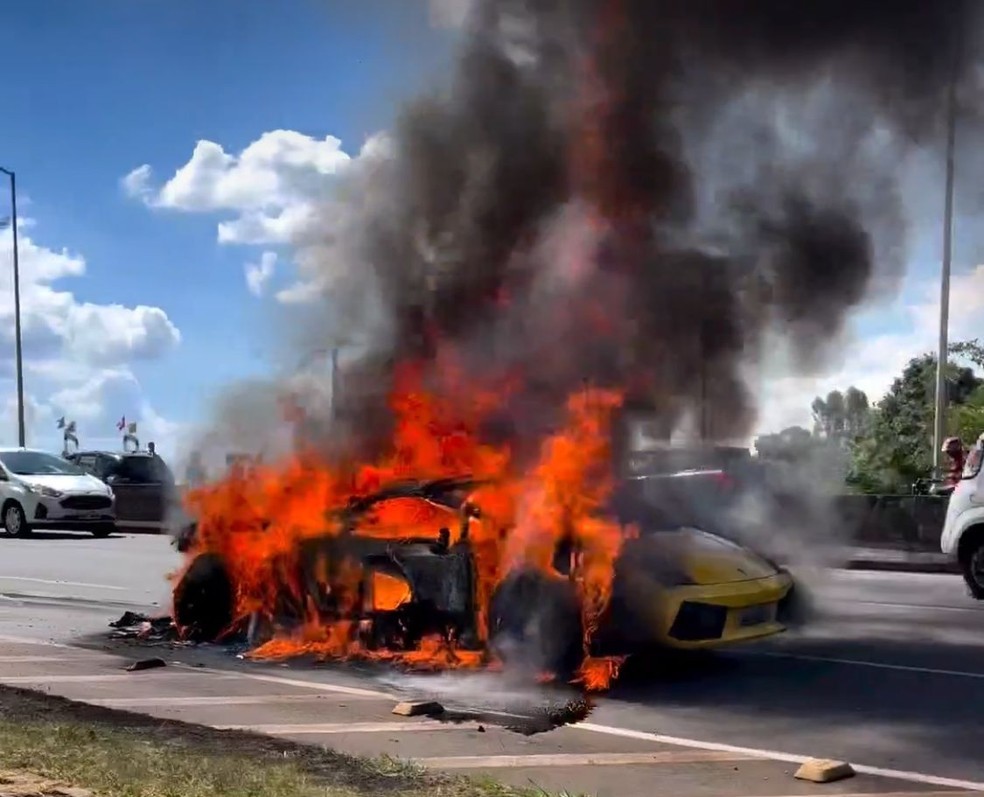
[[[173,450],[220,389],[276,367],[271,336],[296,277],[291,214],[307,199],[285,164],[327,173],[338,154],[328,136],[358,156],[403,98],[446,74],[453,35],[430,25],[424,0],[31,0],[3,4],[0,28],[0,70],[14,77],[0,89],[0,165],[18,173],[24,219],[29,442],[60,445],[66,415],[84,443],[115,447],[125,414]],[[210,143],[193,157],[199,141]],[[195,179],[172,181],[182,168]],[[260,208],[270,180],[279,199]],[[932,345],[938,165],[914,170],[907,190],[914,246],[901,293],[858,320],[829,373],[770,374],[763,426],[806,420],[812,395],[831,387],[877,394]],[[222,223],[233,241],[220,240]],[[269,279],[254,292],[244,269],[264,253],[277,260],[256,271]],[[9,255],[0,235],[0,444],[16,440]],[[984,304],[977,262],[958,235],[963,319]]]

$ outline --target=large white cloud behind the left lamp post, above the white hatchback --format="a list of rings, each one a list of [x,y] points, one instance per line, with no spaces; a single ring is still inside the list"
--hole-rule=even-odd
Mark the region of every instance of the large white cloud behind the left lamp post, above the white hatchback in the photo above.
[[[35,225],[21,222],[19,236],[21,322],[24,354],[25,421],[29,445],[57,447],[55,420],[79,424],[83,442],[113,437],[122,412],[133,420],[160,418],[132,371],[139,361],[173,350],[181,334],[156,306],[80,301],[73,283],[86,276],[82,255],[40,243]],[[27,231],[32,230],[28,235]],[[0,444],[17,441],[14,360],[12,240],[0,234]],[[112,440],[113,447],[119,440]]]

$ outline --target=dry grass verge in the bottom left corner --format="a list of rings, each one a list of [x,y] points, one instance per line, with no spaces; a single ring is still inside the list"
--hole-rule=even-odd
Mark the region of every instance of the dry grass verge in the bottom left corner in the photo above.
[[[412,762],[113,711],[0,687],[0,769],[100,797],[543,797]]]

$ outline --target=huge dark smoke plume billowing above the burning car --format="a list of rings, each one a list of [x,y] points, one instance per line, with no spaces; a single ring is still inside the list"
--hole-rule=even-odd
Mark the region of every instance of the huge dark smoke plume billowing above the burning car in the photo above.
[[[524,374],[520,437],[585,381],[667,431],[703,402],[709,434],[747,434],[767,334],[815,368],[900,273],[897,172],[941,140],[980,8],[475,0],[449,85],[353,171],[306,264],[368,347],[339,396],[358,441],[387,438],[393,364],[448,347],[476,380]]]

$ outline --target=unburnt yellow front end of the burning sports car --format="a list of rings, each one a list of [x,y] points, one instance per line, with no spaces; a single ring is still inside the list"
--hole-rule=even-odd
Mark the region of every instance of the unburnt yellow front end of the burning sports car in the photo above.
[[[636,643],[680,649],[709,649],[782,633],[780,602],[793,588],[789,573],[749,549],[697,529],[653,534],[645,541],[652,555],[673,562],[676,578],[633,568],[629,590]],[[673,583],[673,582],[677,583]],[[707,610],[715,619],[708,638],[686,638],[674,624],[685,606]],[[722,621],[723,615],[723,621]],[[694,634],[690,635],[691,637]]]

